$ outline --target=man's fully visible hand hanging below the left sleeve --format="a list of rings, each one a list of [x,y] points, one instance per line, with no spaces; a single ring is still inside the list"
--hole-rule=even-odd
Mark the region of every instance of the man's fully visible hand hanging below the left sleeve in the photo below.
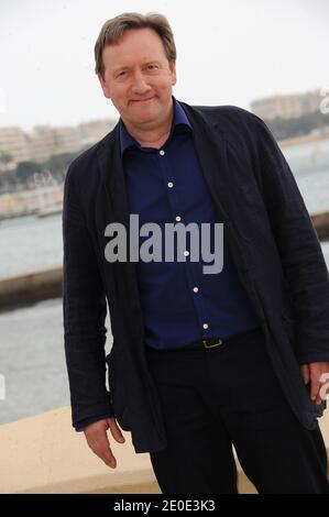
[[[107,430],[110,429],[112,437],[119,443],[124,443],[124,438],[117,424],[116,418],[105,418],[90,424],[84,429],[88,446],[108,466],[116,469],[117,460],[110,448]]]

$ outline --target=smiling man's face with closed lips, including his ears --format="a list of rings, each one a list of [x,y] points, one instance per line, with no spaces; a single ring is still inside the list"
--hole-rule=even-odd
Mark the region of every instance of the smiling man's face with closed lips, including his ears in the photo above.
[[[111,99],[123,122],[153,129],[172,108],[176,66],[169,67],[161,37],[151,29],[127,31],[102,53],[105,96]]]

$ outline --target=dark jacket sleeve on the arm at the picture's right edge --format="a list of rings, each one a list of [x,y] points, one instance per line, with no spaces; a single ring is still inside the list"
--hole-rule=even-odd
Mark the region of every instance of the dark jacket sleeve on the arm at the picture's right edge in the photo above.
[[[259,176],[293,301],[299,364],[329,361],[329,277],[294,175],[272,132],[254,116]]]

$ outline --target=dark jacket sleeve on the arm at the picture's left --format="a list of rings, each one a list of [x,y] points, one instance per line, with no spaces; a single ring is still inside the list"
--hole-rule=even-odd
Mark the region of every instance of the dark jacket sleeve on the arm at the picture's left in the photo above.
[[[107,300],[72,164],[63,201],[63,321],[73,426],[113,415],[106,387]]]

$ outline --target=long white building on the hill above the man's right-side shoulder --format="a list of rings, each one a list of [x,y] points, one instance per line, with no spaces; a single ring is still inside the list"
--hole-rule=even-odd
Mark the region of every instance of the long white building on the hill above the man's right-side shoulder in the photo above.
[[[306,94],[274,95],[252,101],[250,109],[257,117],[265,120],[275,119],[276,117],[293,119],[319,111],[322,99],[320,90]]]

